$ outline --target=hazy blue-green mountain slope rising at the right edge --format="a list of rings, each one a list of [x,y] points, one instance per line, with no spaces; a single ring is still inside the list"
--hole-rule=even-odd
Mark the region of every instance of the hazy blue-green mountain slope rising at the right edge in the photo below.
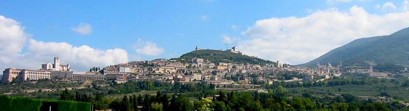
[[[316,66],[317,62],[333,65],[396,64],[409,66],[409,28],[387,36],[359,38],[346,45],[297,66]]]

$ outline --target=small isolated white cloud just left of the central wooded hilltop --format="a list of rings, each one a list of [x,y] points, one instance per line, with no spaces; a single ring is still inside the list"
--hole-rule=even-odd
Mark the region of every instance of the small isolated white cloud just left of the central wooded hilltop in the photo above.
[[[156,43],[152,41],[142,41],[138,39],[138,43],[134,46],[135,51],[140,54],[157,56],[165,52],[163,48],[157,47]]]

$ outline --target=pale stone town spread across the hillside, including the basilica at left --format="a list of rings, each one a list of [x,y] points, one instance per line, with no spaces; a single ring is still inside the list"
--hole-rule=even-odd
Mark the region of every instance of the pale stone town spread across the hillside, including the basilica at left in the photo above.
[[[206,51],[196,47],[195,51]],[[240,54],[237,47],[219,51],[227,54]],[[255,57],[253,60],[257,61]],[[62,58],[63,59],[63,58]],[[169,84],[179,83],[207,83],[216,85],[217,90],[229,91],[254,91],[261,84],[273,84],[274,82],[297,82],[299,84],[312,83],[331,79],[342,75],[342,63],[332,66],[330,63],[316,68],[298,68],[289,64],[269,62],[237,63],[237,62],[214,62],[209,59],[191,58],[164,59],[158,58],[150,61],[130,61],[104,68],[93,67],[87,72],[73,72],[70,64],[61,65],[60,58],[54,57],[53,63],[41,64],[39,70],[8,68],[3,71],[2,82],[12,81],[36,81],[41,79],[55,80],[102,80],[116,83],[127,81],[157,81]],[[347,67],[348,68],[348,67]],[[350,68],[351,69],[351,68]],[[370,69],[357,69],[344,71],[346,73],[359,73],[367,77],[388,77],[387,73],[373,72],[372,63]],[[292,76],[283,77],[282,74]]]

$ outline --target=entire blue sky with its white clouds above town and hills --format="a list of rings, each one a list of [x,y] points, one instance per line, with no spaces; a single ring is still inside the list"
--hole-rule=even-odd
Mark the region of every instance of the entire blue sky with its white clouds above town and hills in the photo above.
[[[237,46],[300,64],[409,27],[408,0],[0,1],[0,69],[70,63],[74,71]]]

